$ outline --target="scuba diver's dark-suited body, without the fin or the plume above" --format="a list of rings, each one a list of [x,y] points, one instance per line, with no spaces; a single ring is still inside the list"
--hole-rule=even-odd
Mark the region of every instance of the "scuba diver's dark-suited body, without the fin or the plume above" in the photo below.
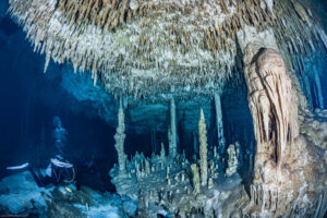
[[[71,183],[75,178],[73,165],[64,161],[58,156],[51,158],[50,165],[46,169],[45,173],[35,169],[31,169],[29,171],[38,186],[46,186],[50,183],[55,185],[60,183]]]

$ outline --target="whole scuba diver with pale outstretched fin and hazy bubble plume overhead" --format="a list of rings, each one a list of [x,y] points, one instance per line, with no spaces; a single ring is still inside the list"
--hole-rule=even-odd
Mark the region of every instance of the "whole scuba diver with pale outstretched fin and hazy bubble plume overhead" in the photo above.
[[[57,116],[53,118],[53,126],[52,136],[57,155],[50,159],[47,169],[36,169],[26,162],[21,166],[8,167],[7,170],[22,171],[28,169],[38,186],[47,186],[50,183],[55,185],[72,183],[75,179],[74,166],[63,157],[66,130],[62,126],[61,120]]]

